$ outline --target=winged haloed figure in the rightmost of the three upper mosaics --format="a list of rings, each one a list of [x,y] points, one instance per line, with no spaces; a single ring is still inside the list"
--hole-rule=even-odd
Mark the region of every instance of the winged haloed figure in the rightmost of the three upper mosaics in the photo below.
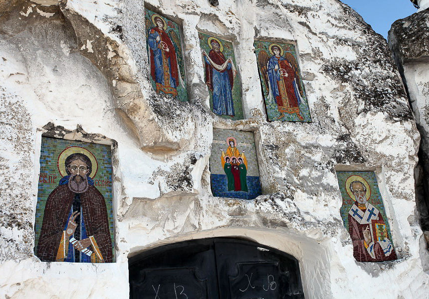
[[[268,100],[277,103],[280,113],[278,120],[284,114],[296,114],[300,121],[304,120],[299,105],[302,103],[304,91],[300,85],[298,63],[289,52],[283,57],[280,45],[272,43],[268,47],[271,57],[261,50],[258,54],[258,63],[268,92]]]

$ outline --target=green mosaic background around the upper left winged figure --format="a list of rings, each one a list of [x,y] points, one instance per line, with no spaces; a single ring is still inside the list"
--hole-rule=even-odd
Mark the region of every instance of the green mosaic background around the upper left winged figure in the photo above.
[[[152,15],[155,12],[149,10],[149,9],[145,9],[145,26],[146,26],[146,36],[148,36],[150,29],[152,29],[153,27],[155,27],[155,25],[152,23]],[[158,13],[157,13],[158,14]],[[173,30],[177,36],[179,36],[180,42],[182,42],[182,37],[180,34],[180,30],[179,30],[179,25],[175,22],[173,22],[172,20],[169,20],[168,18],[160,15],[164,21],[167,23],[167,30],[165,30],[167,33],[170,32],[170,30]],[[183,83],[185,84],[185,86],[181,86],[180,84],[177,87],[177,96],[179,98],[180,101],[182,102],[188,102],[188,91],[186,90],[186,76],[185,76],[185,64],[184,64],[184,60],[183,60],[183,47],[182,44],[176,44],[173,40],[173,45],[174,48],[176,50],[176,57],[177,57],[177,62],[179,64],[179,72],[180,75],[182,76],[182,80]],[[148,57],[150,57],[149,55],[149,44],[146,41],[146,51],[148,51]],[[150,68],[149,68],[149,78],[151,79],[152,82],[152,87],[154,90],[156,90],[156,83],[155,81],[152,79],[152,76],[150,75]],[[166,94],[164,94],[166,95]],[[174,95],[166,95],[168,97],[174,97],[176,98],[176,96]]]

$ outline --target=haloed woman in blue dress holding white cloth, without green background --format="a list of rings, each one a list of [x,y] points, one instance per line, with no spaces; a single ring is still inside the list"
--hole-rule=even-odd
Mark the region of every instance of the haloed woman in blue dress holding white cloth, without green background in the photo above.
[[[225,59],[223,45],[219,39],[211,36],[208,38],[211,48],[209,55],[203,50],[206,62],[206,84],[212,92],[213,112],[217,115],[235,116],[232,100],[232,87],[237,73],[232,59]]]

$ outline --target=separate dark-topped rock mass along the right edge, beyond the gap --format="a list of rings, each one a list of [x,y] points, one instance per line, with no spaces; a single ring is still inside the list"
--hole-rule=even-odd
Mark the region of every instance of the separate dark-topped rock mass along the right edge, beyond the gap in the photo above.
[[[416,168],[416,204],[420,223],[429,236],[429,10],[397,20],[389,31],[393,51],[421,135]],[[429,246],[429,237],[428,246]],[[429,268],[427,268],[429,269]]]

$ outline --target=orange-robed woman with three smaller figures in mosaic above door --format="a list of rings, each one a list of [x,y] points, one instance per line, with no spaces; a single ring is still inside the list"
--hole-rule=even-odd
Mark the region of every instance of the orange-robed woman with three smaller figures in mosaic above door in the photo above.
[[[245,149],[240,153],[235,147],[236,140],[233,137],[227,138],[227,142],[229,147],[226,149],[226,153],[220,149],[220,162],[228,180],[228,191],[248,192]]]

